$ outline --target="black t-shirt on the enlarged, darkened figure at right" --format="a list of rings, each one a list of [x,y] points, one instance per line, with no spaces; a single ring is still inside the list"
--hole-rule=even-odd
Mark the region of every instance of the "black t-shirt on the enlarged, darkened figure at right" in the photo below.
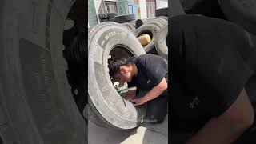
[[[240,26],[215,18],[170,18],[169,32],[170,126],[198,130],[236,100],[256,48]]]

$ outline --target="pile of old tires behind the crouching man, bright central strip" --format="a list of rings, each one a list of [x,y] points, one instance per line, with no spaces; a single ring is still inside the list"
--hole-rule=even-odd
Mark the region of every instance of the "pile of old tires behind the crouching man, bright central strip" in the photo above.
[[[114,17],[114,22],[122,23],[138,38],[142,34],[149,34],[151,41],[148,45],[143,46],[146,53],[159,54],[167,59],[167,21],[168,21],[168,8],[161,8],[155,11],[157,17],[137,19],[135,20],[134,14],[124,14]],[[161,31],[161,34],[160,34]],[[158,38],[158,35],[161,35]],[[159,41],[159,42],[158,42]],[[157,44],[158,43],[158,44]]]

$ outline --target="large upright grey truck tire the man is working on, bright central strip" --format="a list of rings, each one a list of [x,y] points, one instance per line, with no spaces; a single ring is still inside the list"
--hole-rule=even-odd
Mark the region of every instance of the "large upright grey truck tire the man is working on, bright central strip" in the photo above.
[[[136,106],[123,99],[111,80],[108,60],[111,57],[127,58],[145,54],[138,39],[121,24],[102,22],[88,34],[88,93],[93,118],[100,126],[114,129],[133,129],[143,122],[146,106]],[[89,110],[88,110],[89,111]]]

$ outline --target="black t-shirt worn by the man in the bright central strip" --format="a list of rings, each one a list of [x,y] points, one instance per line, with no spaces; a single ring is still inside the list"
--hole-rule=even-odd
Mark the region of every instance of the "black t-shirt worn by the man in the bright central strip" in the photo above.
[[[149,91],[157,86],[167,74],[166,61],[154,54],[142,54],[134,58],[138,69],[137,76],[128,82],[129,86],[137,86],[138,90]]]

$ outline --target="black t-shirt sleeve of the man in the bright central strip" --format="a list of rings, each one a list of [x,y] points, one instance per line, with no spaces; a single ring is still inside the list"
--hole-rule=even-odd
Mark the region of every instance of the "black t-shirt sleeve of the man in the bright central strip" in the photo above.
[[[167,74],[166,61],[158,55],[146,54],[142,63],[144,63],[143,69],[150,79],[151,84],[157,86]]]

